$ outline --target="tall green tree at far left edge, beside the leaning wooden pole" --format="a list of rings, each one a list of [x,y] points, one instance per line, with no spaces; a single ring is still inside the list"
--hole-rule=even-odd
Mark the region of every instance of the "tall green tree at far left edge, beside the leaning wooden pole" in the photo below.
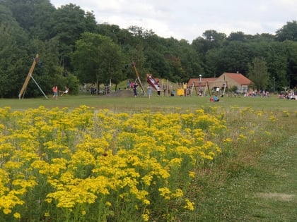
[[[0,4],[0,97],[17,97],[28,73],[28,35]],[[25,74],[27,75],[27,74]]]

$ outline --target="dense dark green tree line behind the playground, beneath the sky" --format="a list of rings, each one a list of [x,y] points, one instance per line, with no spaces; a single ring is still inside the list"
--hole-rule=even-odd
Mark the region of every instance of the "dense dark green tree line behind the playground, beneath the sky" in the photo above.
[[[163,38],[153,30],[97,23],[92,12],[49,0],[0,0],[0,97],[17,97],[35,55],[34,78],[46,92],[68,86],[142,78],[152,73],[173,82],[242,73],[255,87],[281,90],[297,85],[297,23],[287,22],[275,35],[226,35],[206,30],[191,43]],[[40,96],[30,81],[26,97]]]

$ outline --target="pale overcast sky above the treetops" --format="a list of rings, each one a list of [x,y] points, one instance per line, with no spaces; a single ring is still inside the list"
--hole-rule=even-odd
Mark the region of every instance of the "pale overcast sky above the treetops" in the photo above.
[[[193,39],[206,30],[275,34],[297,20],[297,0],[50,0],[56,7],[76,4],[93,11],[98,23],[131,25],[152,30],[160,37]]]

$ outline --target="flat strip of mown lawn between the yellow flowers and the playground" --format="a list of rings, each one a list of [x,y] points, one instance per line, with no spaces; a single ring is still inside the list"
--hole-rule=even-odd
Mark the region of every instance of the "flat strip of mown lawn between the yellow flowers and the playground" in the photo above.
[[[13,109],[37,108],[38,106],[68,107],[74,108],[80,105],[94,107],[95,109],[111,109],[115,111],[141,111],[143,109],[160,111],[166,109],[200,109],[202,106],[219,106],[222,109],[230,106],[252,107],[253,109],[268,109],[273,111],[296,111],[297,101],[277,99],[277,95],[269,98],[262,97],[223,97],[221,102],[210,102],[210,97],[157,97],[153,94],[152,99],[144,96],[131,97],[107,97],[103,95],[92,96],[91,94],[79,94],[78,96],[66,95],[54,100],[51,97],[37,99],[0,99],[0,106],[11,106]]]

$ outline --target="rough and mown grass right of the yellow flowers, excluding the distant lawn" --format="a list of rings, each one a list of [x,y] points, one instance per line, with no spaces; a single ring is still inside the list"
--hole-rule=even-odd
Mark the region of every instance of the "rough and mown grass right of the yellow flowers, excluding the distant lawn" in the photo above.
[[[221,157],[199,171],[190,190],[196,214],[187,221],[296,221],[296,116],[231,112],[226,133],[232,142],[222,144]]]

